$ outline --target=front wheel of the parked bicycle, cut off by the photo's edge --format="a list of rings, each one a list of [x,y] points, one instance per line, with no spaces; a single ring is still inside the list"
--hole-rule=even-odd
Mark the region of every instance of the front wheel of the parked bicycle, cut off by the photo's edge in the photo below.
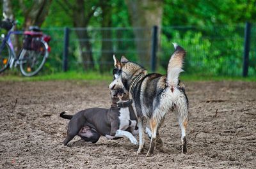
[[[10,46],[7,43],[3,44],[3,39],[0,39],[0,73],[8,68],[11,55]]]

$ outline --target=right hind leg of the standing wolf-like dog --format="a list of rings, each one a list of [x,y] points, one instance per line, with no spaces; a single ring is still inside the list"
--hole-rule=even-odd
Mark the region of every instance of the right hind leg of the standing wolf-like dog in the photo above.
[[[181,129],[181,143],[182,143],[182,153],[187,152],[187,139],[186,139],[186,129],[188,126],[188,104],[185,98],[179,99],[176,102],[176,111],[179,116],[179,126]]]

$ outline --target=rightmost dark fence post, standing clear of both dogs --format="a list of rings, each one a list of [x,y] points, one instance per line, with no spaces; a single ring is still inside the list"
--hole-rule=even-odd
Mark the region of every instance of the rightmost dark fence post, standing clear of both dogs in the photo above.
[[[244,29],[244,58],[243,58],[243,77],[248,76],[249,54],[250,54],[251,24],[246,22]]]

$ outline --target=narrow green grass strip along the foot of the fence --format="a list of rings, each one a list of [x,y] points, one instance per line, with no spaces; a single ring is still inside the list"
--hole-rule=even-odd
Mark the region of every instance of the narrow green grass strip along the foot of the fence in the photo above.
[[[82,72],[82,71],[67,71],[54,73],[51,75],[38,75],[35,77],[22,77],[22,75],[0,75],[0,82],[31,82],[31,81],[50,81],[50,80],[105,80],[111,82],[111,73],[100,74],[96,71]],[[209,76],[209,75],[188,75],[182,73],[180,75],[182,81],[244,81],[256,82],[256,77],[223,77],[223,76]]]

